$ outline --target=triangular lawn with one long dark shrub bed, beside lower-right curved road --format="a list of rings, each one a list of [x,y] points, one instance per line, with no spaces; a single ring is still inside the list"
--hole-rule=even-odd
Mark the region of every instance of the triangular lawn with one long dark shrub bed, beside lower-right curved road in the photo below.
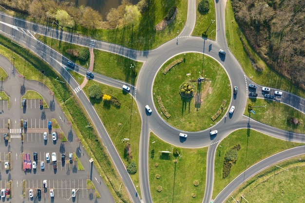
[[[241,146],[237,161],[231,167],[228,177],[223,179],[225,154],[237,144]],[[216,150],[212,197],[215,198],[226,185],[253,164],[277,152],[301,145],[304,144],[272,138],[253,129],[239,129],[232,132],[221,141]]]

